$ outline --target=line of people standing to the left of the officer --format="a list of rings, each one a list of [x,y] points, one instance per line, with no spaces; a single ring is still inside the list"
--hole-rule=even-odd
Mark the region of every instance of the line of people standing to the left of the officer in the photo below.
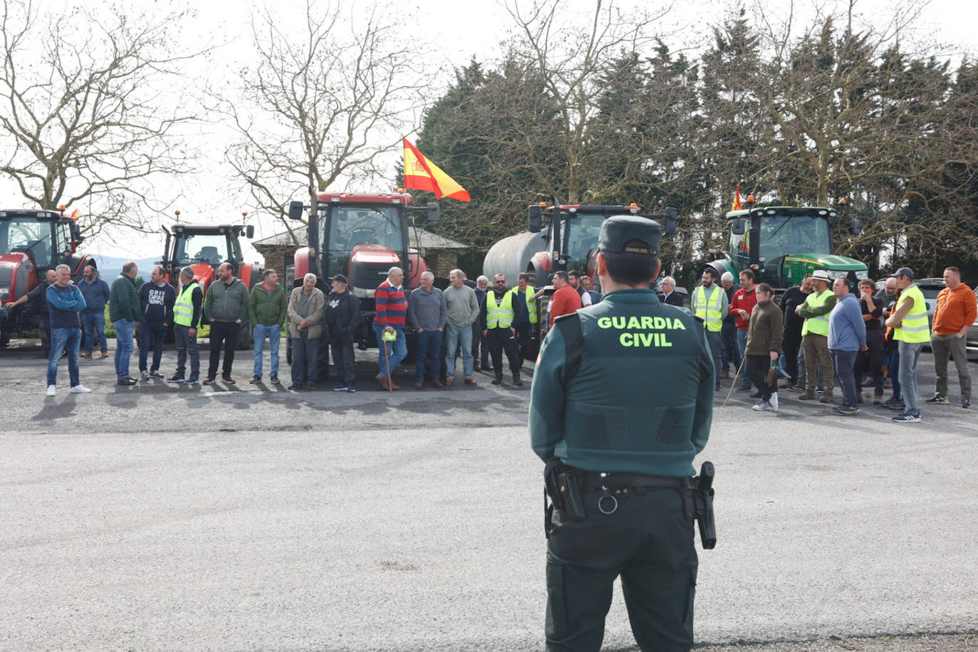
[[[251,383],[262,382],[266,344],[268,379],[272,384],[281,383],[279,350],[285,330],[291,346],[289,390],[318,389],[322,341],[333,357],[333,391],[356,391],[354,347],[362,326],[360,299],[350,291],[343,275],[329,280],[332,291],[326,295],[317,287],[314,274],[305,275],[299,286],[288,291],[275,270],[266,270],[262,282],[248,290],[235,277],[230,263],[218,267],[218,279],[205,293],[190,267],[179,271],[175,285],[167,282],[161,267],[151,271],[149,283],[137,285],[138,274],[137,264],[126,262],[110,286],[97,269],[88,266],[84,279],[75,285],[70,270],[63,265],[48,272],[47,284],[34,291],[34,296],[17,302],[40,299],[44,307],[43,327],[51,341],[48,396],[57,394],[58,366],[63,357],[67,358],[70,391],[89,391],[81,385],[78,361],[91,358],[96,346],[103,358],[109,357],[107,305],[115,329],[114,366],[119,385],[165,377],[161,372],[163,343],[171,326],[176,369],[165,377],[167,382],[210,385],[218,382],[220,370],[220,382],[235,384],[235,350],[242,325],[250,324],[254,344]],[[443,291],[434,286],[433,274],[423,272],[420,286],[406,293],[404,272],[393,267],[375,290],[376,314],[371,326],[378,343],[380,386],[388,391],[400,389],[392,374],[407,355],[405,333],[409,325],[418,335],[416,388],[422,389],[428,380],[439,389],[451,387],[459,358],[463,369],[460,384],[476,385],[472,373],[480,369],[494,372],[493,384],[502,384],[504,354],[512,383],[522,386],[522,361],[530,345],[531,327],[539,319],[535,299],[543,288],[530,287],[526,274],[519,275],[514,287],[508,286],[502,274],[495,276],[492,287],[484,276],[475,283],[467,281],[462,270],[453,270],[449,279],[451,284]],[[600,300],[600,293],[590,289],[590,281],[573,272],[570,276],[558,273],[555,284],[559,300],[552,303],[548,315],[551,323],[560,315]],[[564,285],[566,289],[560,291]],[[201,326],[209,326],[210,338],[209,360],[202,377],[198,348]],[[138,378],[130,375],[137,336]]]

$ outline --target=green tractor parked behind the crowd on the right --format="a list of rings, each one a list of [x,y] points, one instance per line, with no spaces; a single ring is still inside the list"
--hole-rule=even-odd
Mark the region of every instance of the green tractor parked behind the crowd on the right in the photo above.
[[[727,213],[726,250],[712,250],[718,274],[753,270],[755,283],[769,283],[778,294],[801,283],[815,270],[827,270],[832,279],[845,278],[851,285],[868,277],[864,263],[837,256],[832,247],[832,224],[840,219],[834,208],[820,206],[758,206]],[[852,232],[860,233],[858,219]]]

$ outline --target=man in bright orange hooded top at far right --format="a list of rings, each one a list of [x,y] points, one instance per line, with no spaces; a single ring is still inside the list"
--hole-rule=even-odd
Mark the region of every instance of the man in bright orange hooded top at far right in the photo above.
[[[934,371],[937,374],[937,388],[934,396],[925,403],[948,405],[948,357],[955,357],[957,381],[961,387],[961,407],[971,407],[971,372],[968,370],[968,354],[964,337],[968,328],[978,316],[978,301],[975,293],[965,283],[961,283],[961,271],[956,267],[944,270],[944,283],[947,285],[937,295],[934,309],[934,325],[931,328],[930,348],[934,352]]]

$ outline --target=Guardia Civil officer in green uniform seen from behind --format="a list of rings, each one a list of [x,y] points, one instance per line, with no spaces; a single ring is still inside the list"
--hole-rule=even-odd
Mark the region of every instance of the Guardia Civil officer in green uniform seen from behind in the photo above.
[[[606,293],[555,321],[533,374],[533,451],[563,480],[569,470],[564,486],[576,483],[581,498],[553,514],[548,650],[600,649],[618,576],[643,650],[692,646],[697,557],[686,488],[709,436],[714,365],[703,327],[648,289],[660,235],[642,217],[604,221]]]

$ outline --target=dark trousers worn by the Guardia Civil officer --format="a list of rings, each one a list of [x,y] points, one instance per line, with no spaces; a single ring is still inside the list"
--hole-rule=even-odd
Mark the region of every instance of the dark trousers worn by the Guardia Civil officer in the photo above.
[[[584,520],[554,512],[547,542],[547,650],[600,650],[612,587],[621,576],[639,646],[688,651],[698,560],[680,491],[634,487],[617,498],[610,514],[599,509],[602,494],[584,492]],[[601,502],[604,511],[611,504]]]

